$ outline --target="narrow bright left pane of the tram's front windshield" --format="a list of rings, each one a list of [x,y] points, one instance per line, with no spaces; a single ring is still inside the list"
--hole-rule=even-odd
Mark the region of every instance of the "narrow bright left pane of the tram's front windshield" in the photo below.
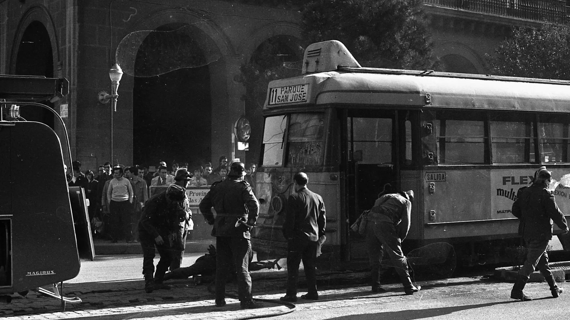
[[[263,131],[263,166],[283,165],[283,138],[287,116],[267,117]]]

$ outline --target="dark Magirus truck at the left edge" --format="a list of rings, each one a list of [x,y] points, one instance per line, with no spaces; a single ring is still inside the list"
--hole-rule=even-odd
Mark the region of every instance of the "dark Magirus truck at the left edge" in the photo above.
[[[77,276],[80,268],[62,143],[47,125],[19,121],[14,106],[43,106],[61,120],[53,109],[36,101],[54,101],[67,93],[66,79],[0,75],[0,301],[3,302],[11,300],[9,294],[34,289],[61,299],[63,306],[64,302],[81,302],[79,298],[60,296],[54,286]],[[41,288],[48,285],[54,292]]]

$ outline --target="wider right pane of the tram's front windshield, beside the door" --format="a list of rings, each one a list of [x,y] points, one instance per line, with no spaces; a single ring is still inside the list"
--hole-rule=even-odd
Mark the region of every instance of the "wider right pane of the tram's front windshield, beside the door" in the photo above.
[[[324,113],[291,114],[287,133],[287,166],[322,165]]]

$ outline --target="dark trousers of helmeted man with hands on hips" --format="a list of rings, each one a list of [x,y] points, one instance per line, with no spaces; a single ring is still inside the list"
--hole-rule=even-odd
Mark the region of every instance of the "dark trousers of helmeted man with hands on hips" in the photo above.
[[[226,278],[231,261],[234,261],[240,302],[251,301],[251,242],[244,237],[216,237],[215,298],[223,300],[226,295]]]

